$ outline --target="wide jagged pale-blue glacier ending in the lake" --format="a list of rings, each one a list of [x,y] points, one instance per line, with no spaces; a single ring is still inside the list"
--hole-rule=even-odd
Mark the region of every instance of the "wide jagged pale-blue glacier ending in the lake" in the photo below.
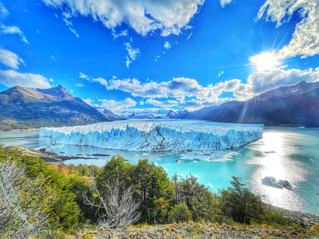
[[[221,150],[259,139],[263,125],[186,120],[130,120],[41,128],[56,143],[135,151]]]

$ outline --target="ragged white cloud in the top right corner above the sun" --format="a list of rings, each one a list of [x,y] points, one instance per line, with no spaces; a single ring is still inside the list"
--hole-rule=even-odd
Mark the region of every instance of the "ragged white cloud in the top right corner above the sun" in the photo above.
[[[258,12],[257,19],[266,15],[266,20],[277,22],[279,27],[286,21],[286,16],[289,17],[289,21],[295,11],[299,12],[301,21],[296,25],[290,43],[279,50],[281,58],[319,54],[318,0],[266,0]]]

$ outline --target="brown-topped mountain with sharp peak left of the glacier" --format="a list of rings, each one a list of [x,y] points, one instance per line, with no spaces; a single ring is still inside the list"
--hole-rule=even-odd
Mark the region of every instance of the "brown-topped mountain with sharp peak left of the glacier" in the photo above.
[[[0,92],[0,130],[75,126],[110,121],[63,86]]]

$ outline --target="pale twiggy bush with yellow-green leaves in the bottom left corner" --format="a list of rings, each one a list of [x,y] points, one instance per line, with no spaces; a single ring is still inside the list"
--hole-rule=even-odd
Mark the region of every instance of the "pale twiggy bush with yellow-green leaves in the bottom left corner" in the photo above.
[[[26,177],[25,167],[10,158],[0,163],[0,237],[28,238],[36,233],[52,238],[56,224],[48,213],[56,201],[56,192],[43,177]]]

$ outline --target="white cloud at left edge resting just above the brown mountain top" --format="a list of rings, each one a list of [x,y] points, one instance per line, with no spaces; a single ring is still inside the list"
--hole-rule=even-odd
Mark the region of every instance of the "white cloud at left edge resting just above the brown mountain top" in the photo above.
[[[19,73],[15,70],[0,70],[0,84],[8,87],[23,86],[31,88],[50,88],[49,80],[41,75]]]

